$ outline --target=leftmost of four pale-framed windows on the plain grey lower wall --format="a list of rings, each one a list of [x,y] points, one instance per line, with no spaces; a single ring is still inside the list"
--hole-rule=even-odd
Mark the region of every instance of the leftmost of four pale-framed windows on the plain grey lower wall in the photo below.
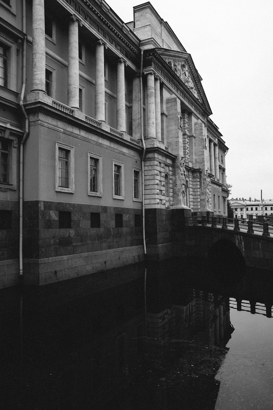
[[[56,142],[56,191],[74,194],[74,147]]]

